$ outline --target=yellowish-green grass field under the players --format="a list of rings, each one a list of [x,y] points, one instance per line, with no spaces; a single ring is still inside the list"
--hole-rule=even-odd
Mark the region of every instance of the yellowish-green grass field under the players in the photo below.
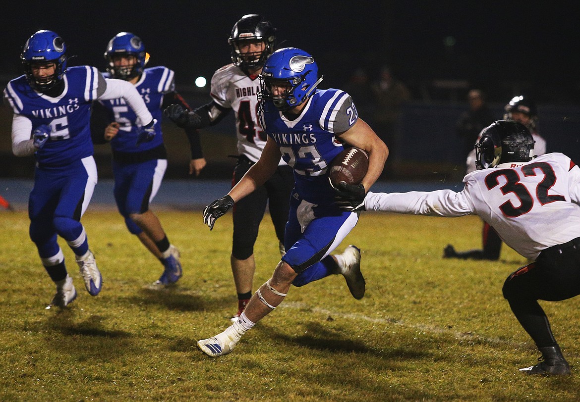
[[[28,238],[25,212],[0,212],[0,400],[124,401],[572,401],[580,398],[580,299],[542,303],[573,375],[528,377],[535,346],[501,294],[525,259],[507,247],[498,262],[443,260],[448,242],[480,244],[476,217],[365,213],[338,252],[362,249],[367,294],[342,277],[292,288],[233,353],[211,359],[198,339],[235,312],[229,267],[231,214],[212,232],[200,211],[158,213],[182,252],[175,288],[147,287],[161,264],[115,211],[85,214],[103,290],[86,293],[60,241],[77,300],[46,310],[54,287]],[[279,260],[269,218],[255,249],[255,288]],[[255,289],[254,289],[255,290]]]

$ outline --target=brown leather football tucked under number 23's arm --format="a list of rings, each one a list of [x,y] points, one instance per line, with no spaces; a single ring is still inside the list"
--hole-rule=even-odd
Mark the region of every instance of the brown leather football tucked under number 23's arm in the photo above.
[[[332,159],[328,176],[334,187],[341,181],[346,184],[358,184],[367,174],[368,155],[360,148],[345,148]]]

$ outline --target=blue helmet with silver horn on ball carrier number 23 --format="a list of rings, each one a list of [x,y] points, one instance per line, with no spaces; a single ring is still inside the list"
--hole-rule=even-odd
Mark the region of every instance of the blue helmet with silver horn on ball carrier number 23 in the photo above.
[[[286,111],[305,102],[322,81],[318,65],[309,53],[296,47],[284,47],[272,53],[264,63],[260,78],[259,101],[273,101],[278,110]],[[274,96],[272,85],[287,86],[284,94]]]

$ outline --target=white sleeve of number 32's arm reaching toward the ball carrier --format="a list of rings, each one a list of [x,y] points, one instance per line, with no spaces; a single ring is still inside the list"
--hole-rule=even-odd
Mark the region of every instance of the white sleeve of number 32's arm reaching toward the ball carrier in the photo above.
[[[367,211],[440,217],[461,217],[473,212],[463,193],[452,190],[409,191],[407,193],[369,191],[364,206]]]

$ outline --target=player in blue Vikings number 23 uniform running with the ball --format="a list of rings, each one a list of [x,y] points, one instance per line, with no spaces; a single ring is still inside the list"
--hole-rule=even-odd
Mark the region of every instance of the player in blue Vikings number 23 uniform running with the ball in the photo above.
[[[215,337],[198,342],[212,357],[231,352],[245,332],[282,302],[292,284],[303,286],[342,274],[354,298],[365,293],[360,250],[350,245],[344,253],[331,255],[358,221],[357,213],[340,210],[336,201],[364,202],[365,193],[382,173],[389,150],[358,118],[349,94],[316,89],[322,77],[318,77],[316,61],[304,50],[277,50],[266,60],[260,79],[259,115],[268,135],[266,146],[242,180],[205,207],[204,222],[212,229],[216,219],[271,176],[282,157],[295,177],[285,233],[287,252],[271,278],[253,294],[240,319]],[[341,182],[333,188],[328,167],[345,144],[368,153],[368,171],[358,185]]]

